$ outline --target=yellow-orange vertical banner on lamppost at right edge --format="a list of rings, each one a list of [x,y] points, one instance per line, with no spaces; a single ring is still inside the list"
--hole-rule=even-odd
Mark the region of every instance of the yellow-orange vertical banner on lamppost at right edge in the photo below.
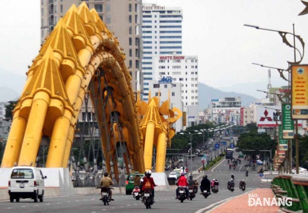
[[[292,119],[308,119],[308,65],[292,66]]]

